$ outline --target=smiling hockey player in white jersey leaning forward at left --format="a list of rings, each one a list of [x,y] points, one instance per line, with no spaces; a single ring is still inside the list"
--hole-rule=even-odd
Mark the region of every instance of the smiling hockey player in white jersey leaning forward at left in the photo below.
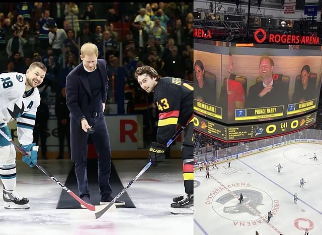
[[[29,153],[23,161],[30,167],[37,164],[38,146],[33,142],[33,127],[37,107],[40,104],[39,86],[45,77],[46,66],[33,62],[26,74],[0,74],[0,128],[11,138],[7,123],[17,119],[18,140],[22,149]],[[16,188],[16,151],[10,142],[0,135],[0,178],[3,183],[4,207],[29,209],[29,200],[14,190]]]

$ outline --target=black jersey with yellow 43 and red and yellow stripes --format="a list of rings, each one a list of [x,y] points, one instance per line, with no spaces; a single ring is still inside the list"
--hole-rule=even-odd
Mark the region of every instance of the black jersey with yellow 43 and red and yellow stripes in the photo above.
[[[153,99],[159,111],[156,141],[166,145],[178,123],[187,126],[192,121],[193,86],[184,79],[163,77],[153,89]]]

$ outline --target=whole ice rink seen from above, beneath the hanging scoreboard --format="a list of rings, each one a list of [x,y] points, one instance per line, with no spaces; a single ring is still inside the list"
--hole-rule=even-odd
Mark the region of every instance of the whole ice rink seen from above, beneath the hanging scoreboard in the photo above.
[[[194,234],[301,235],[305,228],[322,234],[322,145],[292,144],[217,166],[210,165],[210,178],[205,169],[195,170]],[[300,188],[302,177],[307,183]]]

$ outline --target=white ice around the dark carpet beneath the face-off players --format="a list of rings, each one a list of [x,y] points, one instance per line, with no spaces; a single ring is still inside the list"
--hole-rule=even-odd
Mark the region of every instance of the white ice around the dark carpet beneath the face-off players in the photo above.
[[[38,162],[62,183],[72,166],[70,160]],[[113,163],[125,187],[147,160],[113,160]],[[16,191],[29,198],[30,209],[5,209],[1,196],[1,235],[193,234],[193,215],[170,213],[172,198],[184,192],[181,159],[167,159],[155,168],[150,167],[132,184],[127,193],[136,208],[117,208],[98,219],[88,209],[56,209],[61,187],[21,160],[17,160]],[[115,196],[119,192],[112,193]]]

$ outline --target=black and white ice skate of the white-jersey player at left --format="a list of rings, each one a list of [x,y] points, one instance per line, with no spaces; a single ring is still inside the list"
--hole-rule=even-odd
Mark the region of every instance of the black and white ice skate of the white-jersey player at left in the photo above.
[[[6,209],[29,209],[28,198],[25,198],[14,191],[3,190],[4,207]]]

